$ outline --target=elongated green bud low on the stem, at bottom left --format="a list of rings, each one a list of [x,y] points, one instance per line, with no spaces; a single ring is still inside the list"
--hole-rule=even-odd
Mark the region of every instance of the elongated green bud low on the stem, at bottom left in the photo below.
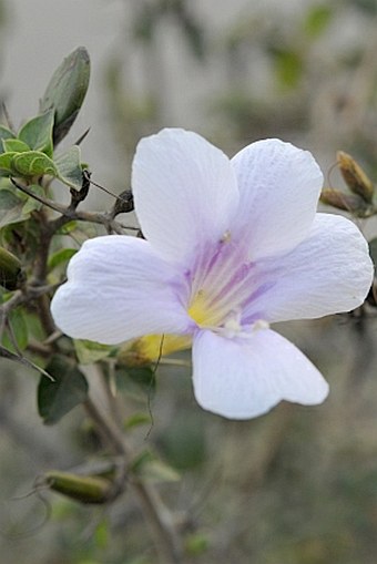
[[[96,475],[79,475],[51,470],[45,472],[42,483],[52,491],[81,503],[106,503],[114,498],[114,484]],[[118,493],[120,493],[119,489]]]

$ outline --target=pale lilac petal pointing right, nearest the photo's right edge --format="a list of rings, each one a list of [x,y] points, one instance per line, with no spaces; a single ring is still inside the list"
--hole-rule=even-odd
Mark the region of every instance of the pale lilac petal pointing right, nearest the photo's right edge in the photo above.
[[[359,229],[339,215],[317,214],[310,234],[288,255],[256,265],[259,288],[243,322],[313,319],[360,306],[374,267]]]

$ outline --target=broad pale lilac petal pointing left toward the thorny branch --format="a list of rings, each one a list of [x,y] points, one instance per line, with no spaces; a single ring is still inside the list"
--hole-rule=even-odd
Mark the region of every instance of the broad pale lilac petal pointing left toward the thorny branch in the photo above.
[[[193,321],[179,277],[145,240],[110,235],[86,240],[51,305],[60,329],[106,345],[146,334],[181,334]]]

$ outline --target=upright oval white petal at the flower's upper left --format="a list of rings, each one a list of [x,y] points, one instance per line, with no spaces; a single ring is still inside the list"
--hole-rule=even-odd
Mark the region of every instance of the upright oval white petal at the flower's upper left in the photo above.
[[[182,264],[197,245],[222,238],[238,204],[227,156],[196,133],[179,129],[139,143],[132,188],[143,234],[163,258]]]

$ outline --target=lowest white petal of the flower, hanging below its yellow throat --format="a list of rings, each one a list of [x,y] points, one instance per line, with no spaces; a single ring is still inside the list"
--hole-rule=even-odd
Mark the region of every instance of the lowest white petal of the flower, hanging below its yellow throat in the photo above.
[[[198,404],[230,419],[249,419],[281,400],[304,406],[324,401],[328,384],[312,362],[271,329],[228,339],[200,331],[193,346]]]

